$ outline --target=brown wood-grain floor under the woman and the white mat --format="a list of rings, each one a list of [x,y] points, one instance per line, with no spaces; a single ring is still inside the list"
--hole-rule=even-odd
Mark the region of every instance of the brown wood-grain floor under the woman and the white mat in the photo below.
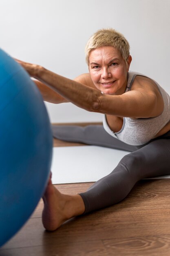
[[[54,141],[55,146],[81,144]],[[92,183],[56,185],[63,193]],[[79,216],[54,232],[45,231],[43,203],[0,256],[170,256],[170,180],[142,180],[122,202]],[[1,232],[1,231],[0,231]]]

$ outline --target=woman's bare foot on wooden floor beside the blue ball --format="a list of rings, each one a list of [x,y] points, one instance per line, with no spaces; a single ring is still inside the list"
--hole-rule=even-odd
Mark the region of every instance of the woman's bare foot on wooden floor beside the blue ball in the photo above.
[[[84,213],[84,201],[80,195],[60,193],[51,182],[51,178],[43,196],[44,209],[42,223],[44,228],[54,231],[66,220]]]

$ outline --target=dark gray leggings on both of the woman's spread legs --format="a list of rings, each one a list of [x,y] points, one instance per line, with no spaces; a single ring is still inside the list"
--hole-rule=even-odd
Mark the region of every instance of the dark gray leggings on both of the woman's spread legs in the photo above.
[[[53,136],[65,141],[105,146],[131,153],[124,156],[107,176],[80,193],[85,212],[108,207],[123,200],[141,179],[170,174],[170,131],[142,146],[131,146],[110,136],[102,125],[53,126]]]

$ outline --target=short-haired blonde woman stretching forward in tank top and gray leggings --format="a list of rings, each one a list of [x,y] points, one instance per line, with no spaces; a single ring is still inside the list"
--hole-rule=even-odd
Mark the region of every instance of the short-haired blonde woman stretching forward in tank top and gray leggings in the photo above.
[[[42,214],[48,230],[57,229],[73,216],[119,202],[143,178],[170,173],[170,97],[154,80],[128,72],[131,60],[126,38],[114,29],[102,29],[86,45],[89,74],[75,81],[18,61],[37,79],[35,83],[45,101],[72,102],[105,114],[104,128],[59,127],[60,138],[71,140],[74,135],[74,141],[131,152],[112,173],[79,195],[60,193],[50,179]]]

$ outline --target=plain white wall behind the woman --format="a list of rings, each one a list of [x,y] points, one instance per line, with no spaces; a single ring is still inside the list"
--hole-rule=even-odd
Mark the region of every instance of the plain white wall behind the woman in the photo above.
[[[130,70],[170,93],[170,0],[0,0],[0,47],[71,79],[88,72],[88,38],[108,27],[128,39]],[[53,123],[102,120],[71,103],[46,106]]]

